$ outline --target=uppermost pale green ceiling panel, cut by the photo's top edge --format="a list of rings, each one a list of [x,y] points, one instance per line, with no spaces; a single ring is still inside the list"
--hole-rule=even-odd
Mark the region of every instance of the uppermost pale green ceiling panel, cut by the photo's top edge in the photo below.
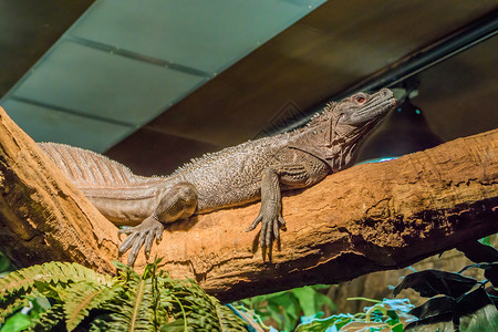
[[[97,1],[72,35],[218,73],[324,1]]]

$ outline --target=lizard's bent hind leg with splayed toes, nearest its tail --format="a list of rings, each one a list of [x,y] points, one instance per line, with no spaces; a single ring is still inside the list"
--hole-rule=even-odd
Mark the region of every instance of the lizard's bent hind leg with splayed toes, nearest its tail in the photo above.
[[[128,266],[133,266],[138,251],[145,245],[148,257],[154,239],[158,243],[163,238],[163,224],[187,219],[197,208],[197,190],[191,184],[180,183],[165,193],[154,212],[136,227],[121,229],[120,234],[128,235],[120,247],[120,256],[132,248]]]

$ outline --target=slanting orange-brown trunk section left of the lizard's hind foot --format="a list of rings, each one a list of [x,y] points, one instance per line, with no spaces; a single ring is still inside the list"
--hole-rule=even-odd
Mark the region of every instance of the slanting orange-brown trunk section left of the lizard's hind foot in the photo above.
[[[116,227],[0,107],[0,251],[18,267],[74,261],[114,272]]]

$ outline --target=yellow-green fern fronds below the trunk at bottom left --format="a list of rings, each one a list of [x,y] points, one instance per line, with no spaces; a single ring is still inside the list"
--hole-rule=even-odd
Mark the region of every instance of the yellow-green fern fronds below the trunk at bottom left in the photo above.
[[[29,326],[24,322],[29,331],[247,331],[243,320],[194,281],[158,272],[159,262],[142,276],[115,262],[116,278],[65,262],[11,272],[0,279],[0,322],[44,297],[53,305],[37,311]]]

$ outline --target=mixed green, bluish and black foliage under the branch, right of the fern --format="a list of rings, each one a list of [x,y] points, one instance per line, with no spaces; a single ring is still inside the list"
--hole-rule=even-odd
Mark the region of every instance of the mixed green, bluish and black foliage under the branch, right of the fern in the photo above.
[[[322,318],[320,309],[323,304],[332,307],[330,300],[318,289],[302,288],[269,295],[242,300],[247,308],[240,308],[256,320],[273,319],[280,329],[286,331],[436,331],[438,328],[450,331],[498,331],[498,251],[487,246],[489,238],[471,241],[458,247],[475,264],[468,266],[458,273],[437,270],[425,270],[412,273],[394,290],[398,294],[402,289],[413,288],[421,295],[430,298],[425,304],[414,308],[407,299],[375,301],[363,313],[334,314]],[[461,273],[471,268],[484,270],[486,280],[478,281]],[[486,288],[491,283],[491,288]],[[299,300],[298,300],[299,299]],[[354,300],[354,299],[350,299]],[[367,299],[363,299],[367,300]],[[301,307],[301,303],[303,305]],[[307,308],[307,309],[304,309]],[[301,324],[295,330],[295,323]],[[437,322],[445,322],[436,325]],[[261,325],[262,322],[261,322]],[[263,325],[267,330],[269,326]],[[448,330],[448,331],[449,331]],[[274,331],[274,329],[272,330]]]

